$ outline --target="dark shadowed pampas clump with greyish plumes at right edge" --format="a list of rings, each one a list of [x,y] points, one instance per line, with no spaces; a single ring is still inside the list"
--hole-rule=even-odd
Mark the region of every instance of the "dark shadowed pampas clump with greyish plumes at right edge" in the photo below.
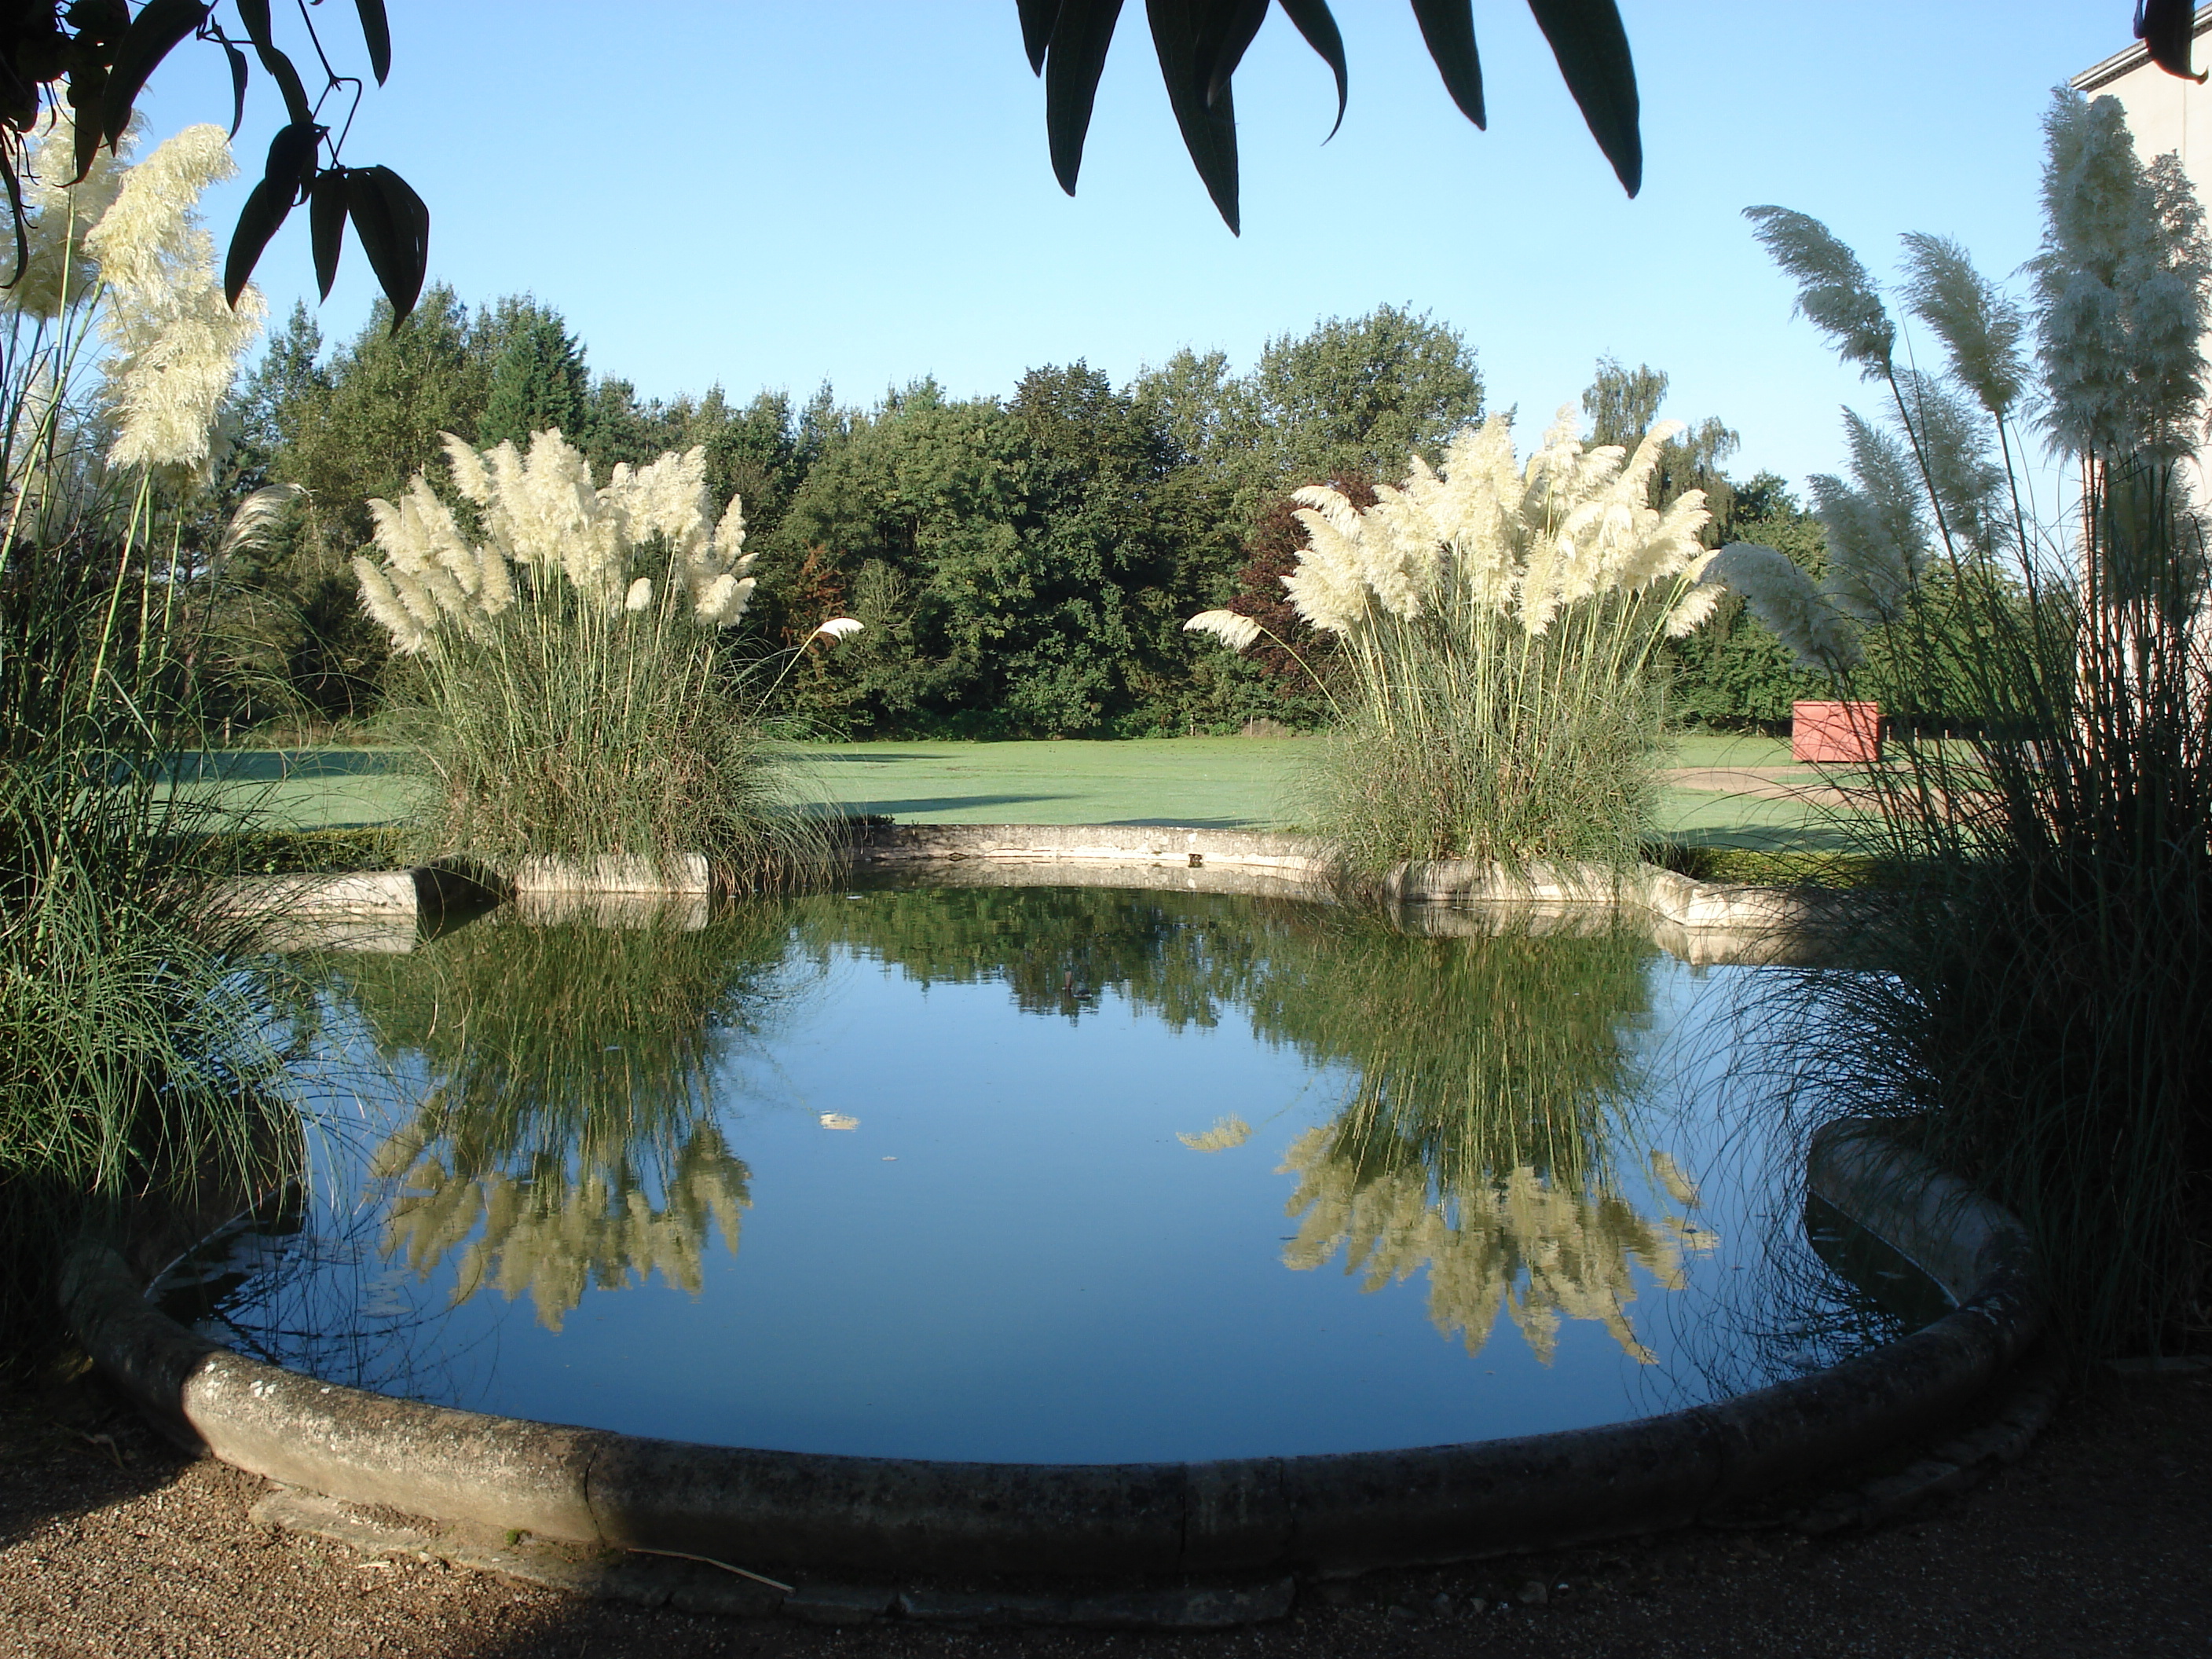
[[[1898,876],[1898,973],[1827,987],[1827,1099],[1896,1117],[2031,1225],[2077,1358],[2212,1340],[2212,586],[2188,487],[2212,243],[2119,104],[2059,93],[2022,303],[1907,237],[1882,294],[1818,221],[1754,208],[1801,310],[1887,392],[1820,480],[1834,575],[1763,549],[1714,573],[1838,686],[1966,719],[1893,728],[1858,821]],[[2075,511],[2028,509],[2031,434]],[[1878,639],[1882,650],[1865,650]],[[1933,641],[1953,644],[1942,661]]]

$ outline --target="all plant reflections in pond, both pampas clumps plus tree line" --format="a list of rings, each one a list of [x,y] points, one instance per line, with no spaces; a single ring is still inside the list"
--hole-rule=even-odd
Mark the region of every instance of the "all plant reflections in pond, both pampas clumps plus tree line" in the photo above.
[[[557,1329],[588,1287],[661,1276],[697,1292],[734,1252],[750,1172],[714,1088],[792,993],[792,960],[860,953],[922,984],[1004,982],[1082,1020],[1115,991],[1170,1029],[1237,1009],[1256,1035],[1356,1082],[1283,1155],[1298,1186],[1285,1265],[1380,1287],[1427,1270],[1429,1318],[1480,1352],[1500,1312],[1551,1360],[1562,1321],[1628,1321],[1632,1267],[1666,1290],[1712,1248],[1697,1188],[1630,1152],[1652,947],[1632,933],[1409,933],[1312,905],[1110,889],[876,891],[739,907],[706,927],[624,916],[491,918],[407,960],[332,962],[389,1064],[429,1088],[372,1159],[398,1197],[383,1250],[453,1301],[491,1285]],[[821,1113],[825,1128],[856,1119]],[[1177,1139],[1228,1152],[1243,1117]],[[1650,1219],[1619,1168],[1648,1161]]]

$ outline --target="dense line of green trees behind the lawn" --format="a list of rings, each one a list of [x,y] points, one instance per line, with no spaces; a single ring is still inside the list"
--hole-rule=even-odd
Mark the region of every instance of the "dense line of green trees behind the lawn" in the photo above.
[[[1593,442],[1635,442],[1666,376],[1599,363]],[[1411,456],[1436,462],[1484,414],[1475,349],[1427,314],[1380,305],[1265,343],[1250,369],[1181,349],[1126,385],[1084,361],[1035,367],[1009,396],[933,378],[845,405],[759,392],[739,405],[641,398],[595,374],[564,319],[531,296],[469,307],[434,285],[392,325],[378,303],[325,349],[301,305],[239,389],[228,498],[301,498],[226,573],[230,619],[204,686],[232,726],[358,719],[378,708],[387,641],[349,560],[367,500],[396,498],[440,434],[526,442],[557,427],[604,480],[701,447],[717,507],[743,498],[765,650],[823,617],[867,624],[783,679],[779,712],[825,737],[1144,737],[1327,719],[1329,639],[1283,604],[1296,557],[1290,491],[1371,498]],[[1820,526],[1778,478],[1730,480],[1736,436],[1703,420],[1670,447],[1657,493],[1705,489],[1717,538],[1783,546],[1818,573]],[[1230,657],[1186,635],[1206,608],[1261,617],[1283,641]],[[1674,655],[1690,721],[1787,719],[1825,688],[1730,602]]]

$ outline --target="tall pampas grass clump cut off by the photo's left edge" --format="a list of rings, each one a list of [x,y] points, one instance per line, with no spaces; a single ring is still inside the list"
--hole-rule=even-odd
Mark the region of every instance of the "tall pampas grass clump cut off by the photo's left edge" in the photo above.
[[[128,146],[126,155],[128,155]],[[223,303],[195,204],[221,128],[82,179],[60,113],[0,290],[0,1367],[60,1340],[53,1272],[86,1225],[243,1197],[296,1119],[261,1040],[270,982],[208,905],[219,827],[168,776],[226,560],[270,498],[199,538],[219,409],[261,299]]]

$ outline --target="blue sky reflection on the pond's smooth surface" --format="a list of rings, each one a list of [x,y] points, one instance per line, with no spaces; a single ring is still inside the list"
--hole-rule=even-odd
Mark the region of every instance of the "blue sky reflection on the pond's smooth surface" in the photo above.
[[[1767,1283],[1776,1217],[1796,1228],[1778,1188],[1730,1183],[1759,1172],[1763,1141],[1728,1121],[1723,1051],[1701,1024],[1741,973],[1697,978],[1668,958],[1650,973],[1652,1029],[1630,1040],[1655,1088],[1630,1119],[1701,1183],[1697,1221],[1719,1232],[1717,1252],[1686,1259],[1686,1292],[1635,1274],[1628,1316],[1652,1367],[1590,1321],[1562,1325],[1548,1367],[1504,1318],[1471,1356],[1431,1325],[1427,1274],[1365,1292],[1340,1259],[1285,1270],[1296,1181],[1281,1157],[1334,1115],[1349,1073],[1316,1073],[1234,1015],[1170,1033],[1106,991],[1095,1018],[1022,1018],[1002,984],[925,991],[845,951],[814,995],[785,1004],[772,1046],[723,1079],[752,1208],[739,1254],[708,1250],[697,1298],[659,1281],[591,1290],[560,1334],[491,1292],[447,1310],[451,1261],[418,1285],[378,1261],[380,1217],[338,1206],[349,1214],[323,1217],[321,1261],[281,1323],[361,1310],[349,1332],[299,1347],[334,1380],[803,1451],[1314,1453],[1690,1405],[1708,1376],[1745,1380],[1712,1316],[1763,1294],[1745,1287]],[[416,1079],[398,1082],[405,1095]],[[823,1128],[823,1113],[858,1128]],[[1248,1144],[1208,1155],[1177,1139],[1223,1115],[1254,1126]],[[343,1166],[374,1139],[361,1124],[323,1150]],[[1679,1214],[1646,1150],[1613,1148],[1624,1197],[1652,1221]],[[358,1190],[338,1170],[323,1186]]]

